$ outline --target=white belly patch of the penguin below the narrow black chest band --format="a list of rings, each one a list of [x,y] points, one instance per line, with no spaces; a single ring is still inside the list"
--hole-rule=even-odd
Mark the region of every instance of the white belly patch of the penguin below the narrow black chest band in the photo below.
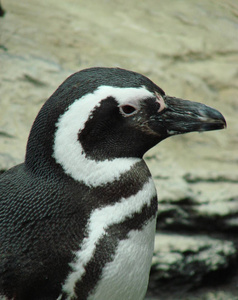
[[[144,299],[154,249],[155,219],[120,241],[115,258],[106,264],[89,300]]]

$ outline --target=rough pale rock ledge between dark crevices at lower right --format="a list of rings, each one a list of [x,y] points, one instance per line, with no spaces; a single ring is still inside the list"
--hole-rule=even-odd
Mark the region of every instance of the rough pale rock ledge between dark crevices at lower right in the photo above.
[[[222,278],[236,261],[233,242],[205,235],[157,234],[152,260],[150,289],[166,291],[194,288],[204,280]],[[223,280],[223,279],[221,279]]]

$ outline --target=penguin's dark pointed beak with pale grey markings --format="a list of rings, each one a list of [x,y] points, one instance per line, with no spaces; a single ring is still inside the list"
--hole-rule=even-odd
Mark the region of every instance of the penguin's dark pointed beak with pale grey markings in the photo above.
[[[159,123],[166,136],[226,127],[225,118],[214,108],[167,95],[163,100],[165,107],[160,112]]]

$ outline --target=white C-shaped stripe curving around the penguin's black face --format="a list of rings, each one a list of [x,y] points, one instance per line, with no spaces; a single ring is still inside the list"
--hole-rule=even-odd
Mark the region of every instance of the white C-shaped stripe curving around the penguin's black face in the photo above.
[[[68,110],[60,116],[56,124],[57,130],[52,156],[62,166],[66,174],[90,186],[112,182],[140,161],[140,159],[133,157],[104,161],[88,159],[78,141],[78,133],[84,129],[92,111],[100,105],[102,99],[107,99],[110,96],[120,106],[128,102],[135,103],[154,95],[145,87],[118,88],[101,86],[94,93],[86,94],[75,100]]]

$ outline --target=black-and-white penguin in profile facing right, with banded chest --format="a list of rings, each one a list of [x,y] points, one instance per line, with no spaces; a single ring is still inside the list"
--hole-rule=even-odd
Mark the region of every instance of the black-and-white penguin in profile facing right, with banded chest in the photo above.
[[[225,126],[135,72],[67,78],[37,115],[25,162],[0,177],[1,299],[144,299],[157,196],[142,157],[169,136]]]

